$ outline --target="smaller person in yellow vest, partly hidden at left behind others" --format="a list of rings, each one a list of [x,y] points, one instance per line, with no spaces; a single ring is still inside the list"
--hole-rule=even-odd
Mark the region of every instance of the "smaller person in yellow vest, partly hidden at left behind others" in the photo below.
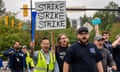
[[[33,61],[33,59],[30,57],[30,53],[28,52],[26,45],[24,45],[24,46],[22,47],[22,51],[23,51],[23,53],[25,54],[25,61],[26,61],[26,66],[27,66],[26,71],[27,71],[27,72],[33,72],[34,61]]]

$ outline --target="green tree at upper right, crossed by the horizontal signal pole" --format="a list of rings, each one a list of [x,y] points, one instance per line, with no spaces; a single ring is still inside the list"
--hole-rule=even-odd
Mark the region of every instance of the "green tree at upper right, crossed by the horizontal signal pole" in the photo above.
[[[117,9],[118,5],[113,1],[110,2],[105,9]],[[115,17],[117,16],[118,12],[115,11],[98,11],[94,14],[95,17],[100,17],[102,20],[102,24],[100,25],[100,29],[102,30],[110,30],[110,27],[115,22]]]

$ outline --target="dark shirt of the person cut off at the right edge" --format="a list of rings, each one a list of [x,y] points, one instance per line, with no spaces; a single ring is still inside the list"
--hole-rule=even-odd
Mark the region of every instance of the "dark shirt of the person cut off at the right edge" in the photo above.
[[[113,58],[117,65],[117,70],[120,71],[120,45],[116,48],[113,48]]]

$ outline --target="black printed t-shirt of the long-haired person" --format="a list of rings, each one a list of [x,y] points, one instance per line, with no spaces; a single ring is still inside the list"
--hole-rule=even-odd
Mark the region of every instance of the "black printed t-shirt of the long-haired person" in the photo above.
[[[64,63],[64,56],[66,55],[68,47],[56,47],[56,59],[59,65],[60,72],[63,72],[63,63]]]

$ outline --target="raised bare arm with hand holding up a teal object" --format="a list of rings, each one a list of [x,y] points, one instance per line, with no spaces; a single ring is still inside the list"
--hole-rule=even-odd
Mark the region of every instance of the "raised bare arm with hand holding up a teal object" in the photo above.
[[[92,20],[92,24],[94,25],[96,36],[100,35],[99,24],[101,24],[101,19],[96,17],[95,19]]]

